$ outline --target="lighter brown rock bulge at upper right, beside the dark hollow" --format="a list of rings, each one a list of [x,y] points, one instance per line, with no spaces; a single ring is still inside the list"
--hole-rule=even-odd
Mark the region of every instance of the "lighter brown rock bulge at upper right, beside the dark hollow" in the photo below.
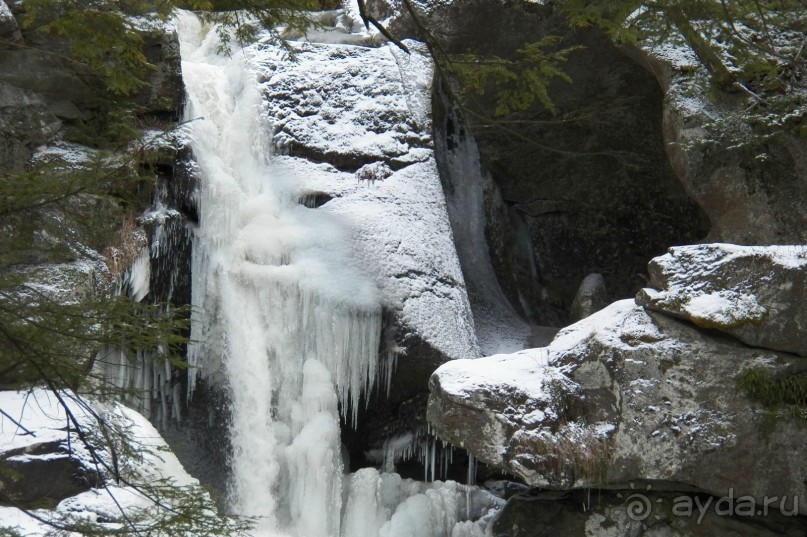
[[[685,48],[623,49],[652,72],[664,92],[664,141],[686,192],[708,216],[709,242],[807,242],[807,143],[781,129],[753,132],[736,117],[746,95],[715,103],[701,89],[702,68]],[[788,91],[804,91],[804,80]],[[753,108],[753,106],[751,107]],[[764,119],[761,120],[764,123]]]

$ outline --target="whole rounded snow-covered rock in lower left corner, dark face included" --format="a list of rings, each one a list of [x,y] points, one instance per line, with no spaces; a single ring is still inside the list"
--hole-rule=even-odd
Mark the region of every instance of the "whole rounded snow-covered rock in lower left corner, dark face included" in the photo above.
[[[45,521],[68,527],[97,523],[106,530],[120,528],[125,519],[142,523],[160,510],[151,499],[157,493],[148,487],[163,480],[193,490],[199,505],[212,506],[146,418],[67,390],[59,396],[61,401],[45,389],[0,392],[0,534],[45,535],[53,531]],[[33,509],[39,520],[20,506]]]

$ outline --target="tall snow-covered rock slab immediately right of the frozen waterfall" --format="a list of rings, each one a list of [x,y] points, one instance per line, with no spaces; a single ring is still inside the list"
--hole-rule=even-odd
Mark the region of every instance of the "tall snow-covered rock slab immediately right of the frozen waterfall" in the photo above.
[[[414,41],[411,55],[395,46],[294,46],[291,61],[271,42],[252,57],[275,160],[292,172],[301,200],[353,230],[357,261],[392,314],[389,351],[405,375],[393,390],[412,395],[437,365],[478,355],[432,148],[431,60]]]

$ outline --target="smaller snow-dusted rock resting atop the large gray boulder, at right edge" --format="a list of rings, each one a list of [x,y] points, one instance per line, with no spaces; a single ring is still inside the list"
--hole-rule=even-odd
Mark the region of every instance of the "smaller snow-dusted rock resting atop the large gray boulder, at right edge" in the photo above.
[[[648,271],[640,305],[807,356],[807,246],[679,246]]]

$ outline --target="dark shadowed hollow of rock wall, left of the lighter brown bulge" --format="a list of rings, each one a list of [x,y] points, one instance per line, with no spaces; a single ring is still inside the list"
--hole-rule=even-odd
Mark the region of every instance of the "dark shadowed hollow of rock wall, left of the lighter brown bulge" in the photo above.
[[[379,16],[392,17],[387,20],[395,30],[417,35],[405,13],[396,15],[384,0],[370,4]],[[495,91],[478,97],[455,90],[450,97],[469,110],[466,132],[495,185],[485,193],[485,237],[496,276],[513,307],[544,325],[569,322],[575,293],[588,274],[604,274],[613,297],[633,296],[642,287],[639,274],[647,259],[671,244],[701,240],[709,230],[669,163],[664,96],[656,80],[597,31],[570,31],[557,4],[413,4],[450,54],[519,61],[519,48],[549,35],[562,37],[558,48],[583,47],[563,64],[573,83],[550,87],[557,116],[535,106],[496,117]],[[476,114],[483,119],[473,119]],[[466,126],[437,127],[451,136]],[[438,160],[448,158],[438,153]],[[513,248],[524,243],[526,260]],[[529,274],[531,266],[535,275]],[[535,281],[542,292],[529,285]]]

